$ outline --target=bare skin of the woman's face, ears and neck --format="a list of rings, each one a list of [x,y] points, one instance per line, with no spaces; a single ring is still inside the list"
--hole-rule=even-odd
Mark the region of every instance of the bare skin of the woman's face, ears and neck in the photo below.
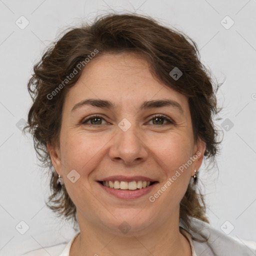
[[[86,105],[71,112],[77,102],[87,98],[111,100],[116,108]],[[172,106],[139,110],[143,101],[152,99],[175,100],[184,113]],[[102,119],[81,124],[91,114]],[[165,120],[158,124],[152,119],[154,114],[163,114],[175,124]],[[131,123],[125,132],[118,127],[123,118]],[[48,143],[47,147],[77,210],[80,234],[71,246],[71,256],[191,255],[188,240],[179,232],[179,203],[194,169],[202,163],[205,143],[194,143],[187,97],[155,80],[145,59],[119,53],[90,60],[66,95],[60,145]],[[150,202],[149,195],[196,151],[200,156]],[[67,178],[72,169],[80,175],[74,183]],[[119,199],[96,182],[119,174],[143,175],[159,183],[150,194]],[[118,228],[123,221],[131,226],[127,233]]]

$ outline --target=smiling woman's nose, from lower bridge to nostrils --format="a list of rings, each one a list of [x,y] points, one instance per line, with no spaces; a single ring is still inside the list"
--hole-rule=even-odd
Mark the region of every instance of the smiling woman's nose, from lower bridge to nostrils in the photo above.
[[[134,125],[131,125],[126,131],[118,127],[109,149],[109,157],[113,161],[122,161],[128,165],[144,161],[147,158],[148,150],[142,139]]]

